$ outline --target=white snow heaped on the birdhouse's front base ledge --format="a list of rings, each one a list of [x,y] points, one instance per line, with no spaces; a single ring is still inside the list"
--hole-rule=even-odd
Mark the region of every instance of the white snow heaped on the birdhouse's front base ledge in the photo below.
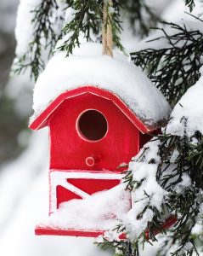
[[[109,230],[129,211],[130,205],[130,194],[120,184],[86,199],[60,204],[57,212],[39,225],[64,230]]]

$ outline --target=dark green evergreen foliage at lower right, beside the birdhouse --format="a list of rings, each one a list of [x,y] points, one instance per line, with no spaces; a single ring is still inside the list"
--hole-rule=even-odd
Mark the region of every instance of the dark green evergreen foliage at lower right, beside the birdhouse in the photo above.
[[[187,120],[183,119],[183,122],[185,122],[186,127]],[[144,212],[149,208],[153,211],[154,217],[148,222],[146,229],[149,232],[149,239],[143,232],[134,241],[111,241],[108,238],[104,238],[102,242],[99,242],[99,246],[103,248],[114,247],[120,253],[118,255],[122,256],[139,255],[141,245],[144,247],[148,242],[157,241],[155,233],[158,231],[165,237],[164,245],[161,247],[159,255],[165,256],[168,251],[173,256],[180,254],[198,255],[196,246],[198,243],[200,244],[200,236],[195,236],[192,230],[196,224],[197,217],[200,215],[200,205],[203,203],[203,137],[197,131],[192,137],[187,137],[186,133],[183,137],[164,133],[153,140],[155,139],[160,140],[158,154],[161,157],[156,179],[167,194],[161,211],[151,207],[149,203],[138,217],[142,218]],[[142,162],[144,154],[145,151],[137,161]],[[177,157],[174,158],[174,154],[177,154]],[[153,159],[149,160],[149,162],[153,164]],[[191,183],[185,184],[183,182],[185,176],[189,177]],[[133,181],[133,172],[128,170],[124,182],[127,183],[127,189],[136,193],[136,190],[140,188],[144,180],[140,183],[135,183]],[[146,196],[149,195],[146,194]],[[162,216],[166,212],[171,212],[171,214],[178,217],[175,226],[167,233],[161,226]],[[126,232],[126,228],[121,224],[116,231],[121,234]],[[130,253],[127,251],[127,246],[129,245],[131,247]]]

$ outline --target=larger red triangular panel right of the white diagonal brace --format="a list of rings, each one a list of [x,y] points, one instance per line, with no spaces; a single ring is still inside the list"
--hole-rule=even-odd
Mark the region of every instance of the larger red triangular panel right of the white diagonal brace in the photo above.
[[[121,180],[118,179],[68,178],[67,181],[89,195],[93,195],[99,191],[112,189],[121,183]]]

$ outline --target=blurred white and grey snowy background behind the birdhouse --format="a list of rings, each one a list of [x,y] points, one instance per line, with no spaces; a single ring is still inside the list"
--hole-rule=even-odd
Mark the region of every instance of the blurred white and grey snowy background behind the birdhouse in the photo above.
[[[18,2],[0,1],[0,255],[111,255],[100,251],[93,239],[34,235],[35,224],[48,214],[48,131],[31,133],[26,128],[33,88],[29,78],[8,80]],[[183,0],[149,3],[165,20],[185,16]],[[129,30],[123,32],[127,49],[135,49],[137,41]],[[155,247],[149,246],[143,255],[154,253]]]

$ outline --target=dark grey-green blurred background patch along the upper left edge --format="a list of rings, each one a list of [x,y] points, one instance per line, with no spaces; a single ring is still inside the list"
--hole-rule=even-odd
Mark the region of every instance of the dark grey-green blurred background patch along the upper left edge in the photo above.
[[[26,120],[31,113],[31,87],[23,86],[20,79],[10,79],[10,67],[14,59],[14,26],[17,0],[0,3],[0,163],[17,157],[25,148],[26,142],[20,140],[25,131]],[[29,81],[29,79],[26,79]],[[23,84],[26,84],[24,81]],[[19,85],[20,84],[20,85]],[[7,86],[6,86],[7,85]],[[18,90],[18,91],[17,91]],[[28,107],[28,108],[26,108]],[[30,109],[30,111],[29,111]]]

